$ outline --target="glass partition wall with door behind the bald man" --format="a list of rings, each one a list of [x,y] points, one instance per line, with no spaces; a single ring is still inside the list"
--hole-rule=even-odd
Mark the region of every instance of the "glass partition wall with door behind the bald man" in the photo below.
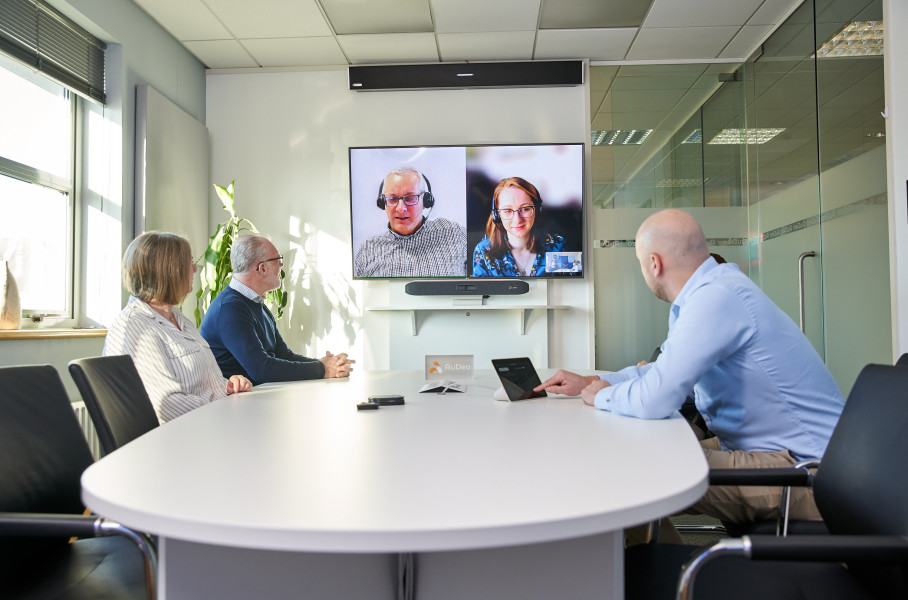
[[[591,68],[598,368],[665,338],[633,238],[667,207],[802,326],[844,393],[892,361],[881,20],[881,0],[806,0],[744,64]]]

